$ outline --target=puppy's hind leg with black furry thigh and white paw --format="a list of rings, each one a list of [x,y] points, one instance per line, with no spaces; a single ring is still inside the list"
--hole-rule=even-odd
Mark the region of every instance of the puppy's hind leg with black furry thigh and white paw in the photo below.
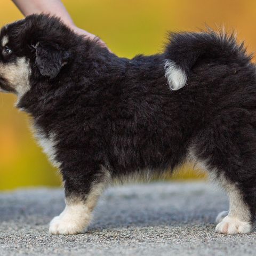
[[[223,123],[215,123],[198,135],[189,151],[190,158],[209,172],[229,197],[229,211],[218,215],[215,231],[249,233],[256,206],[256,133],[253,126],[244,123],[225,127]]]

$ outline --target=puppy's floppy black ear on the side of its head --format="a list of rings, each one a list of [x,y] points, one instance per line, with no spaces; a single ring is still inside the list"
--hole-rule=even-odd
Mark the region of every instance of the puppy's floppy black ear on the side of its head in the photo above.
[[[36,66],[42,76],[54,78],[61,68],[67,64],[69,53],[60,49],[56,44],[38,42],[36,49]]]

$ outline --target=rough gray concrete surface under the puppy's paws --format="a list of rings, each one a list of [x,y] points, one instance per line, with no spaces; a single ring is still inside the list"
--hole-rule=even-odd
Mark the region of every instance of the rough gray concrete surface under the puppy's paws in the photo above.
[[[227,197],[207,183],[110,188],[86,234],[49,235],[64,207],[61,189],[0,194],[0,255],[255,255],[256,234],[214,233]]]

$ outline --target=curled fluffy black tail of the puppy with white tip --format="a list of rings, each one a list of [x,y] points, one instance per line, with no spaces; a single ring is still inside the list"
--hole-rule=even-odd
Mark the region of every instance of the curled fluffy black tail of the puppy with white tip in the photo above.
[[[171,33],[165,50],[165,77],[171,90],[179,90],[193,66],[202,59],[218,59],[223,64],[239,62],[247,65],[252,59],[244,44],[237,44],[234,34],[217,33],[211,29],[202,33]]]

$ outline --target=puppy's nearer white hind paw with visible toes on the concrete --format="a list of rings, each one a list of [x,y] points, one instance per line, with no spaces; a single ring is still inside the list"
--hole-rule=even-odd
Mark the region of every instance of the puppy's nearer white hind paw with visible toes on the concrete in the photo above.
[[[234,235],[234,234],[246,234],[251,231],[250,222],[241,221],[235,217],[226,216],[216,226],[215,231],[217,233]]]

